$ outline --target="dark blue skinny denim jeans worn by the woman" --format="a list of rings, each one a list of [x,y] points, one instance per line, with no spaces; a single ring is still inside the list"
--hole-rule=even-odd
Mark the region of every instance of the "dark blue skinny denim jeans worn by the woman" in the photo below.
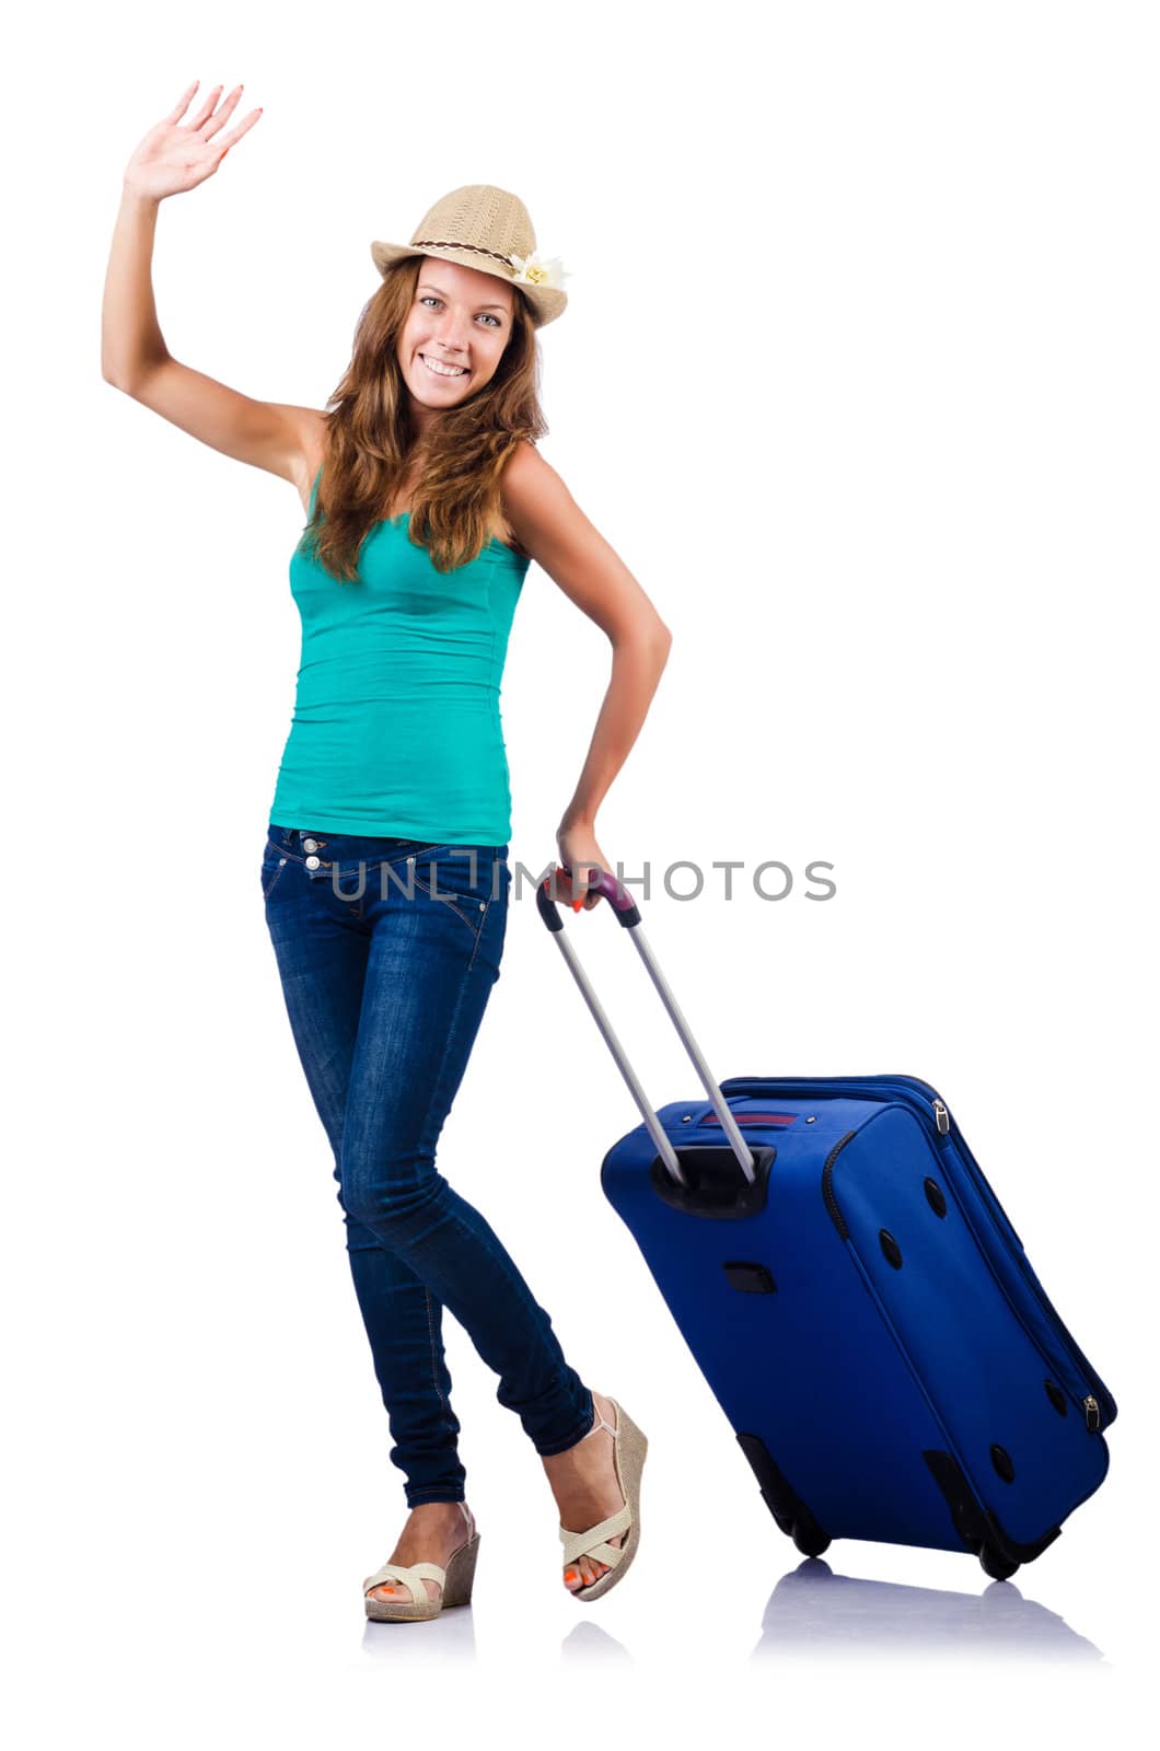
[[[499,1376],[496,1397],[538,1453],[573,1446],[594,1417],[548,1315],[435,1164],[499,977],[510,884],[506,846],[275,825],[261,865],[266,925],[335,1152],[354,1292],[408,1508],[464,1497],[445,1306]]]

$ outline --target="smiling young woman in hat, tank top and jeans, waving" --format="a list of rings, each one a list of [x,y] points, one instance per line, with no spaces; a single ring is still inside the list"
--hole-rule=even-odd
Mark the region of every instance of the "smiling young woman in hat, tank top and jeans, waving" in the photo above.
[[[547,1311],[435,1145],[463,1079],[508,914],[510,791],[499,681],[531,560],[608,636],[612,681],[557,830],[555,893],[599,902],[596,809],[624,765],[671,636],[536,450],[536,329],[559,273],[513,194],[468,186],[410,243],[373,243],[382,284],[324,411],[252,401],[173,359],[158,327],[158,205],[216,175],[242,86],[196,82],[123,186],[102,312],[103,375],[216,450],[291,482],[303,660],[263,858],[291,1030],[335,1152],[354,1289],[410,1508],[363,1583],[368,1616],[433,1618],[471,1593],[478,1532],[440,1333],[447,1306],[499,1376],[559,1509],[564,1585],[598,1599],[640,1539],[647,1441],[566,1362]],[[568,872],[575,872],[571,877]],[[578,898],[576,898],[578,897]],[[580,1529],[580,1530],[569,1530]]]

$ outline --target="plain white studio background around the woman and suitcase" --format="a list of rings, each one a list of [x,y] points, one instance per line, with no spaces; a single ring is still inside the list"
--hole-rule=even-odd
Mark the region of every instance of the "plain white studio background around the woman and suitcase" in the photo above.
[[[112,0],[9,40],[21,1746],[1139,1740],[1155,26],[1114,0]],[[179,359],[252,396],[326,404],[371,238],[447,189],[515,189],[562,256],[543,454],[675,632],[599,842],[652,868],[650,940],[718,1077],[943,1093],[1120,1399],[1104,1488],[1013,1583],[839,1543],[857,1586],[775,1592],[797,1553],[601,1194],[638,1114],[527,883],[440,1164],[650,1436],[641,1555],[606,1602],[566,1595],[540,1462],[449,1317],[475,1604],[364,1623],[401,1476],[258,877],[301,506],[100,375],[121,172],[195,77],[265,114],[163,205],[158,312]],[[503,686],[531,876],[606,679],[533,567]],[[797,877],[782,902],[748,884],[767,858]],[[676,860],[699,898],[664,891]],[[654,1101],[696,1094],[606,907],[566,928]]]

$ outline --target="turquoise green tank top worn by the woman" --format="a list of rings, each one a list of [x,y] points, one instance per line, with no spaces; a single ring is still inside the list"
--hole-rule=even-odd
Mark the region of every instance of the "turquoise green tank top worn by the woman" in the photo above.
[[[408,520],[371,527],[356,583],[331,578],[300,538],[289,576],[301,664],[270,819],[503,846],[512,791],[499,683],[531,560],[492,536],[470,566],[440,573],[408,539]]]

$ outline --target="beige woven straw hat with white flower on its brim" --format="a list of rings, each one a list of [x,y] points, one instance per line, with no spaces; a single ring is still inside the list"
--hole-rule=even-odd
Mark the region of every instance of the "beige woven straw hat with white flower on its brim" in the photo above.
[[[541,261],[527,208],[517,194],[491,182],[468,182],[431,207],[410,243],[371,243],[380,273],[401,256],[438,256],[464,268],[494,273],[519,285],[531,303],[533,322],[543,327],[564,313],[568,292],[559,256]]]

